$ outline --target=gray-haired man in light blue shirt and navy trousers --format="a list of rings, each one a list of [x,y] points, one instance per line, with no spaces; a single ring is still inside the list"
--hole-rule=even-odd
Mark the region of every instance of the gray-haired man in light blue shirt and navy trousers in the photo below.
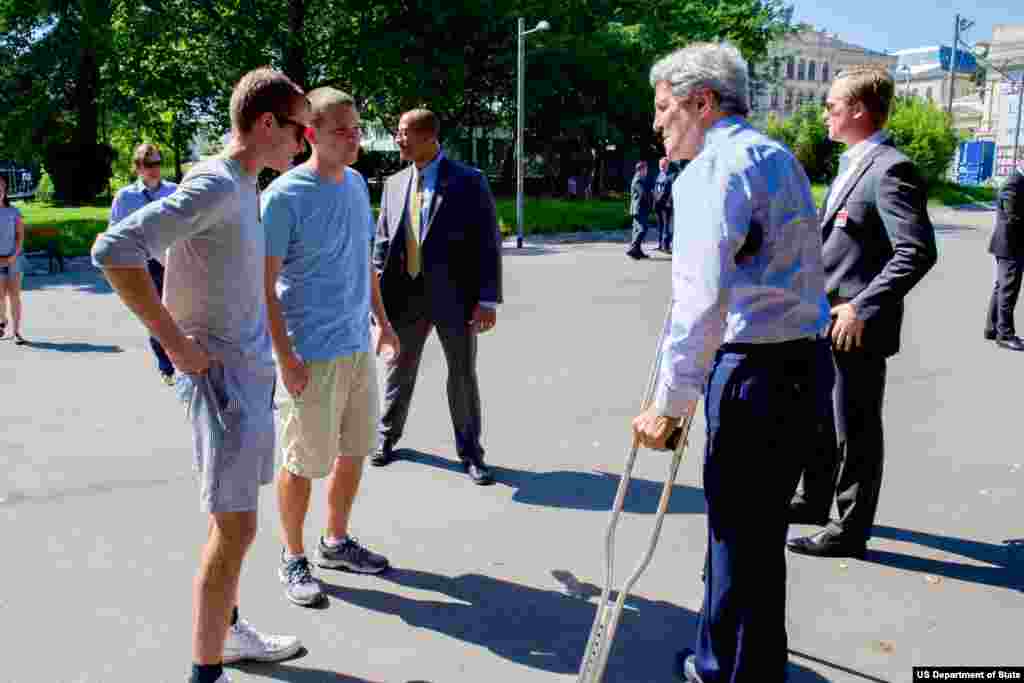
[[[678,226],[673,304],[651,407],[633,421],[650,449],[705,396],[705,601],[679,675],[783,681],[788,502],[834,371],[821,237],[794,156],[755,130],[746,62],[728,43],[657,61],[654,131],[671,160]],[[685,213],[683,213],[685,212]]]

